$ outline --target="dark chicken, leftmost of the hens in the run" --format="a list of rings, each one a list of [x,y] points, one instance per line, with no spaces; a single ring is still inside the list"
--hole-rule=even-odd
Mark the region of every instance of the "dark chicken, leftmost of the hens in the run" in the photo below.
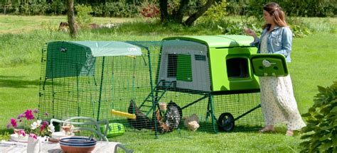
[[[143,128],[146,129],[152,129],[153,128],[153,122],[141,113],[139,108],[137,107],[136,103],[134,103],[133,100],[130,101],[129,108],[127,109],[128,113],[134,113],[136,115],[136,119],[127,119],[130,125],[132,125],[137,130],[141,130]]]

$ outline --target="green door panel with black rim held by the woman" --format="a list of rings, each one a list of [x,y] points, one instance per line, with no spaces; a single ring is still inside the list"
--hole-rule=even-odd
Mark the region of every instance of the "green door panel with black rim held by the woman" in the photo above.
[[[258,77],[285,77],[288,75],[287,62],[284,55],[257,54],[251,55],[254,74]]]

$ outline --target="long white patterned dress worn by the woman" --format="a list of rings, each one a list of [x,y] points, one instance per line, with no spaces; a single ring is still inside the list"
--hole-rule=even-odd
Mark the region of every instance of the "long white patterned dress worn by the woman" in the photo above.
[[[267,54],[267,37],[261,40],[260,51]],[[299,130],[306,126],[297,109],[290,75],[287,77],[259,77],[261,107],[266,125],[287,123],[288,130]]]

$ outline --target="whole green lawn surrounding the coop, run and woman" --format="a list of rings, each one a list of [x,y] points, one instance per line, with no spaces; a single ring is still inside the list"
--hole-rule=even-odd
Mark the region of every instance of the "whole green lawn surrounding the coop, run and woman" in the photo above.
[[[309,18],[310,19],[310,18]],[[308,19],[308,20],[309,20]],[[41,47],[53,40],[70,40],[68,33],[35,30],[43,22],[58,26],[65,16],[0,16],[0,136],[6,130],[10,118],[28,108],[38,107],[38,86],[41,71]],[[132,19],[95,18],[97,23],[109,21],[124,22]],[[120,21],[119,21],[120,20]],[[314,21],[319,20],[317,18]],[[330,18],[336,27],[337,19]],[[9,26],[17,23],[16,26]],[[134,28],[119,27],[117,30],[85,30],[76,40],[161,40],[167,36],[182,35],[177,29],[159,27],[159,32],[141,24]],[[148,26],[149,27],[149,26]],[[43,28],[43,26],[41,26]],[[144,28],[144,30],[142,30]],[[178,28],[179,27],[173,27]],[[34,29],[34,30],[33,30]],[[193,29],[193,28],[192,28]],[[148,31],[154,31],[149,35]],[[202,34],[203,30],[192,34]],[[146,31],[146,32],[144,32]],[[188,34],[188,33],[183,33]],[[209,34],[209,33],[208,33]],[[220,34],[210,32],[210,34]],[[312,106],[317,86],[330,86],[337,81],[337,33],[313,33],[306,38],[294,38],[292,62],[289,72],[294,86],[294,94],[300,113],[306,113]],[[149,132],[137,134],[126,132],[112,141],[123,142],[135,152],[299,152],[300,133],[286,137],[284,125],[277,125],[274,134],[259,134],[256,131],[220,132],[179,132],[175,130],[154,139]]]

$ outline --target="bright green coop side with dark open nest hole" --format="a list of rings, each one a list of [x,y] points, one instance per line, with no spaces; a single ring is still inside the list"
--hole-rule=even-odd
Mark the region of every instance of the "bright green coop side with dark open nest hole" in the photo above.
[[[210,48],[212,91],[260,89],[250,64],[250,55],[255,52],[252,47]]]

